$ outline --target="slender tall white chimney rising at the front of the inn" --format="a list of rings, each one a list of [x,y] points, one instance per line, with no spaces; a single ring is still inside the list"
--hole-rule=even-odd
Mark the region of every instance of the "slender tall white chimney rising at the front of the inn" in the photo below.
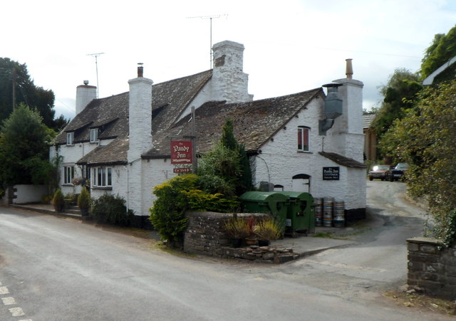
[[[142,76],[142,64],[138,66],[138,77],[128,80],[130,98],[128,109],[129,144],[128,162],[141,157],[152,148],[152,83]]]

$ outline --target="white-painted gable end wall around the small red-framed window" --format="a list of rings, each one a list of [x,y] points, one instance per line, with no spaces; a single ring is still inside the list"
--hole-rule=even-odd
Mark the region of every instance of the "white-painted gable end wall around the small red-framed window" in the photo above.
[[[286,130],[280,130],[274,141],[267,142],[261,147],[261,154],[254,157],[254,184],[259,186],[260,181],[270,181],[272,184],[284,186],[284,190],[293,189],[292,177],[296,174],[311,176],[310,193],[315,197],[331,196],[345,201],[346,209],[366,208],[366,171],[365,169],[349,169],[330,159],[321,156],[323,144],[325,152],[332,150],[333,136],[318,135],[318,120],[323,118],[323,99],[318,98],[309,103],[307,110],[302,110],[298,118],[293,118],[286,124]],[[297,151],[297,129],[299,126],[310,127],[310,152]],[[343,136],[340,135],[339,136]],[[361,137],[362,135],[351,135]],[[324,137],[324,140],[323,140]],[[345,137],[344,137],[345,138]],[[347,141],[349,141],[347,139]],[[355,141],[355,140],[353,140]],[[362,141],[359,147],[363,148]],[[352,157],[358,149],[356,144],[348,144],[346,152],[338,152],[346,157]],[[267,164],[267,166],[266,166]],[[323,181],[323,167],[339,167],[338,181]]]

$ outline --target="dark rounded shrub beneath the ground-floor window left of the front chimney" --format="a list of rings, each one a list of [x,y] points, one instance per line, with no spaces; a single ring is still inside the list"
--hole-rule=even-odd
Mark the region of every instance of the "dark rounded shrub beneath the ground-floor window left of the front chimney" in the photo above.
[[[129,226],[133,221],[133,211],[127,211],[125,199],[113,194],[104,194],[94,199],[90,214],[98,223]]]

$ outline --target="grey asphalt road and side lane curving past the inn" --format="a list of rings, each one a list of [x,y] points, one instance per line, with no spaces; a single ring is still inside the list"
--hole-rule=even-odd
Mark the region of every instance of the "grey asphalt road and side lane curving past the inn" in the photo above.
[[[405,283],[405,239],[423,221],[395,189],[368,182],[371,215],[353,246],[285,265],[176,256],[111,228],[0,208],[0,320],[447,320],[380,294]]]

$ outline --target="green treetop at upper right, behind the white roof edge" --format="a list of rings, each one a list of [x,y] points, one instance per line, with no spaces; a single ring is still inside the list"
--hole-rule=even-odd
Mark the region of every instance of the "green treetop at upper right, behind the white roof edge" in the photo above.
[[[425,56],[421,63],[421,80],[427,78],[437,68],[456,56],[456,26],[450,29],[445,35],[437,33],[432,44],[426,49]],[[456,78],[456,63],[448,66],[434,79],[434,84]]]

